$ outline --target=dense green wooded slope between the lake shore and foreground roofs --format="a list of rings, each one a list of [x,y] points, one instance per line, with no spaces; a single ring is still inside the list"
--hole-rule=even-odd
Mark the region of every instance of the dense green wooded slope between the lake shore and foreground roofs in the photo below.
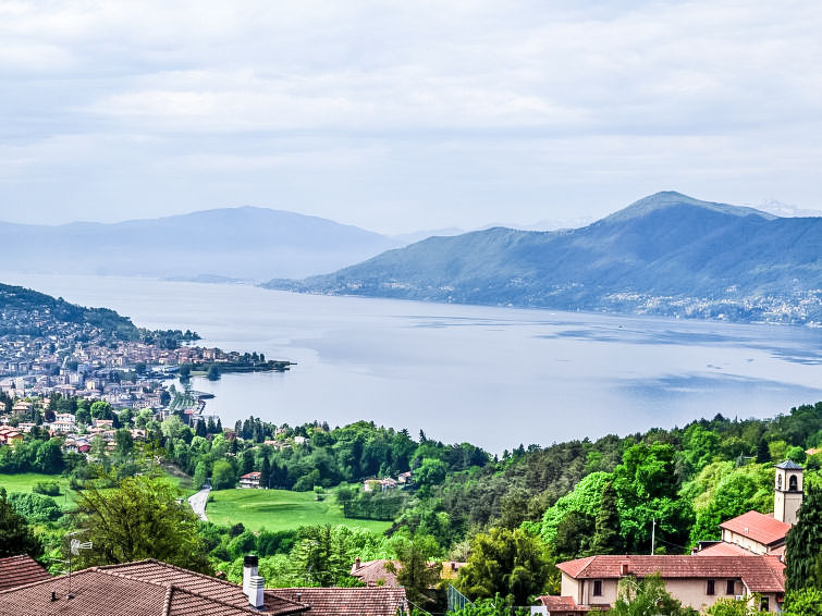
[[[189,556],[192,550],[207,555],[200,569],[219,568],[232,579],[242,572],[242,556],[257,552],[274,586],[356,583],[348,572],[356,557],[447,558],[468,563],[452,582],[471,597],[499,592],[528,601],[559,590],[557,562],[648,553],[654,523],[655,552],[683,554],[697,541],[717,539],[723,520],[749,509],[771,512],[775,463],[803,464],[807,489],[822,488],[822,452],[813,451],[822,446],[822,402],[773,419],[717,415],[672,430],[548,447],[520,444],[501,456],[366,421],[289,427],[249,418],[233,430],[213,421],[192,430],[179,416],[158,421],[148,410],[115,411],[106,403],[89,409],[87,404],[54,396],[49,406],[77,417],[112,419],[119,428],[113,451],[97,440],[89,459],[64,454],[59,439],[37,429],[14,449],[0,447],[0,473],[62,473],[81,490],[77,512],[62,522],[48,521],[62,512],[46,495],[37,502],[14,494],[9,498],[39,525],[40,541],[52,554],[64,525],[91,525],[89,533],[101,533],[99,542],[111,540],[94,520],[108,498],[119,497],[112,488],[143,491],[151,498],[173,493],[150,479],[159,455],[193,477],[195,488],[210,481],[214,490],[231,490],[242,475],[259,471],[262,486],[314,492],[345,513],[349,523],[344,526],[251,532],[237,512],[232,528],[199,523],[199,547],[183,542]],[[145,430],[145,441],[134,441],[126,428]],[[408,471],[410,480],[391,486]],[[389,489],[380,489],[378,480]],[[265,490],[251,492],[265,501]],[[358,528],[361,519],[389,520],[391,528],[377,534]],[[324,551],[320,560],[317,545]],[[182,557],[173,550],[155,554],[151,545],[140,550],[130,557]],[[84,557],[106,560],[100,553]],[[489,569],[489,559],[501,564]],[[520,577],[512,577],[514,570]]]

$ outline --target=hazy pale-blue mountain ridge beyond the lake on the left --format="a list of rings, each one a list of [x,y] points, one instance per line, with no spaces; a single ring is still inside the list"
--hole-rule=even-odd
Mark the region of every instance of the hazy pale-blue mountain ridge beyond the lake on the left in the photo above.
[[[0,222],[0,269],[263,281],[333,271],[404,243],[294,212],[225,208],[114,224]]]

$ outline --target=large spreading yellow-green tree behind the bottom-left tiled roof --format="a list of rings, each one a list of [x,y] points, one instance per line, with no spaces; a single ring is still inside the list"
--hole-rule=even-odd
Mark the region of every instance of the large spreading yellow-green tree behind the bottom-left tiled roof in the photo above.
[[[114,489],[87,488],[77,497],[76,526],[84,539],[87,565],[111,565],[144,558],[210,572],[198,518],[179,491],[158,477],[125,478]]]

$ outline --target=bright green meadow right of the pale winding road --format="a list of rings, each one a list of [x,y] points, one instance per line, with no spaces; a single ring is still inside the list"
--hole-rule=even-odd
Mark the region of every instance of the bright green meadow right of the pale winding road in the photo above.
[[[332,495],[315,501],[314,492],[287,490],[219,490],[206,506],[209,521],[219,525],[243,522],[250,530],[289,530],[300,526],[345,525],[383,532],[391,522],[353,520],[343,517]]]

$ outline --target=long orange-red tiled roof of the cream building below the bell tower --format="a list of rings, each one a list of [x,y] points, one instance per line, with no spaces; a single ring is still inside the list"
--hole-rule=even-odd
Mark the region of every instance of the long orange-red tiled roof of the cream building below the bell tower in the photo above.
[[[739,578],[750,592],[784,592],[785,565],[775,556],[589,556],[556,565],[576,579],[621,578],[621,565],[638,578]]]

